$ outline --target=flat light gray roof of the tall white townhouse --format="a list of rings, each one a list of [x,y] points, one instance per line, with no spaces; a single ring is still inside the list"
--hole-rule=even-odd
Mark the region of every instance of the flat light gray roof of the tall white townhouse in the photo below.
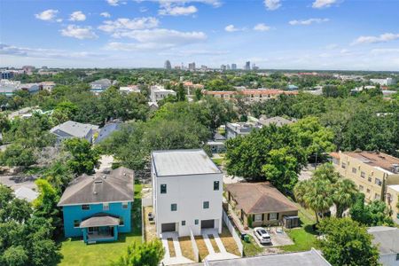
[[[186,176],[219,174],[221,170],[202,149],[154,151],[156,176]]]

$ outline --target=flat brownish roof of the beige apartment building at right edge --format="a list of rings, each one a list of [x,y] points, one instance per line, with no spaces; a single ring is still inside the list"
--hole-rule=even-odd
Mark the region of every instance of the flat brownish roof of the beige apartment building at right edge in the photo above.
[[[357,160],[360,160],[363,163],[368,164],[372,167],[382,168],[385,171],[390,172],[390,175],[395,173],[395,165],[399,167],[399,158],[395,158],[394,156],[388,155],[387,153],[364,151],[348,152],[344,154],[347,154],[349,157],[356,158]]]

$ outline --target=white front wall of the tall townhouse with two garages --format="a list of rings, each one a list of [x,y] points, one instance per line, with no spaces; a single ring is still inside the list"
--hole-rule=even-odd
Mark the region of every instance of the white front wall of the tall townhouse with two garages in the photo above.
[[[214,181],[219,181],[218,191],[214,191]],[[160,194],[160,184],[167,184],[166,194]],[[215,228],[221,232],[222,200],[222,174],[162,177],[153,174],[153,209],[158,235],[162,223],[176,223],[180,237],[189,236],[190,228],[194,235],[200,235],[201,220],[211,219],[215,219]],[[209,208],[203,208],[204,201],[209,201]],[[176,211],[171,211],[172,203],[177,204]]]

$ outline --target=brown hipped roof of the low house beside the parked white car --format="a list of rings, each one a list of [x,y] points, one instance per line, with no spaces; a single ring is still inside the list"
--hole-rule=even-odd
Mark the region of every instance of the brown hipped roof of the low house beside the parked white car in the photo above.
[[[269,182],[226,184],[246,214],[297,211],[298,207]]]

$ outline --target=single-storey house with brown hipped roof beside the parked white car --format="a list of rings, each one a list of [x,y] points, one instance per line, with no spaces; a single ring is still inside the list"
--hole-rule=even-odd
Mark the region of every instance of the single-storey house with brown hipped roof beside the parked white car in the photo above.
[[[226,184],[227,200],[244,226],[298,225],[298,207],[269,182]]]

